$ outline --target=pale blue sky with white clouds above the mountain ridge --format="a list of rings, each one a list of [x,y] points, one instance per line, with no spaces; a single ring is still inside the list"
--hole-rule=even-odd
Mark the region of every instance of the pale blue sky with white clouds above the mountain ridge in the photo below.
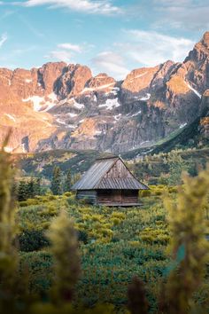
[[[0,67],[64,60],[120,79],[182,61],[206,30],[208,0],[0,1]]]

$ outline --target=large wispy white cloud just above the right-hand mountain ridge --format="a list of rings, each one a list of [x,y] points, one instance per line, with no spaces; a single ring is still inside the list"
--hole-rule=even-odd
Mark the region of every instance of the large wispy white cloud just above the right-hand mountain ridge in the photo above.
[[[153,31],[133,29],[126,30],[125,33],[129,43],[123,50],[127,51],[129,57],[148,67],[156,66],[167,59],[182,61],[195,44],[187,38],[162,35]]]

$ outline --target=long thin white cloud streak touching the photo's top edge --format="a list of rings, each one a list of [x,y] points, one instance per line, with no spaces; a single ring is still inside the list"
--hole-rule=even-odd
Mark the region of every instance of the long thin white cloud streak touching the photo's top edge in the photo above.
[[[90,14],[111,15],[120,13],[118,6],[112,5],[110,0],[27,0],[24,6],[49,5],[50,8],[63,7],[78,12],[87,12]]]

